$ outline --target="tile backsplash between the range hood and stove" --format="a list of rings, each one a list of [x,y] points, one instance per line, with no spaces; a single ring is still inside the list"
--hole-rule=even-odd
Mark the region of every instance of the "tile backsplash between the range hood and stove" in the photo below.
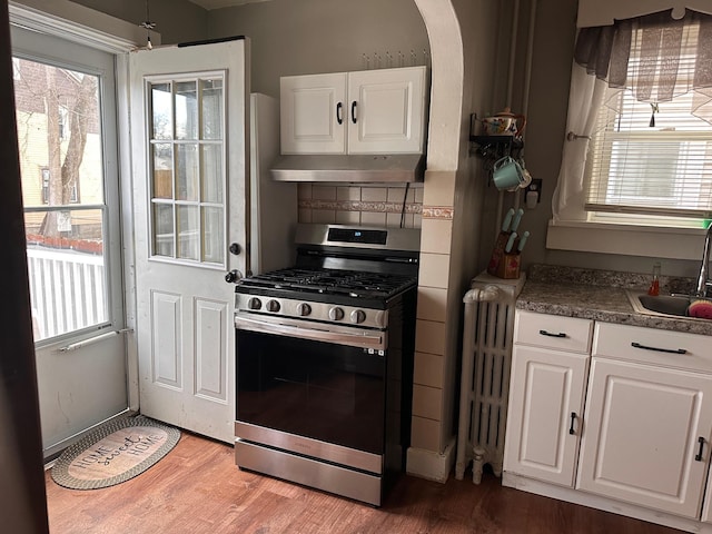
[[[421,228],[423,184],[299,184],[298,204],[299,222]]]

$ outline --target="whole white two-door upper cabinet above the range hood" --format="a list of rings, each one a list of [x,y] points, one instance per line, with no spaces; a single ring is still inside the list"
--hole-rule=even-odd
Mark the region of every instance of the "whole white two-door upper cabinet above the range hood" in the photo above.
[[[421,154],[426,67],[280,79],[281,154]]]

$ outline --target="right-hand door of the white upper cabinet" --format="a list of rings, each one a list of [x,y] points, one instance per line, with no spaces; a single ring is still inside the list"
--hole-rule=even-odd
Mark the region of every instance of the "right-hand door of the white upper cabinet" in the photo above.
[[[424,150],[425,75],[425,67],[349,72],[350,154]]]

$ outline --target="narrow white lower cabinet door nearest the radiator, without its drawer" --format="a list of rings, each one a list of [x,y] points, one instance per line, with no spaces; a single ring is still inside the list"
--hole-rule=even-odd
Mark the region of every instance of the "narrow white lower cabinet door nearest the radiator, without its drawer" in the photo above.
[[[504,471],[573,486],[587,365],[585,354],[514,346]]]

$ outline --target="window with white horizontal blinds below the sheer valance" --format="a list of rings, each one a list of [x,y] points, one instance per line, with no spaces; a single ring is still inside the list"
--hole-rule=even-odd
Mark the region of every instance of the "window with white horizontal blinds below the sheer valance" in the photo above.
[[[686,42],[695,44],[696,27],[685,31],[691,32]],[[633,43],[629,78],[640,77],[645,68],[636,57],[640,31]],[[688,90],[692,80],[683,75],[693,71],[694,62],[691,46],[681,55],[678,96],[671,101],[640,101],[644,97],[634,87],[609,90],[586,161],[590,218],[623,215],[693,224],[690,219],[712,218],[712,125],[693,115],[694,91]]]

